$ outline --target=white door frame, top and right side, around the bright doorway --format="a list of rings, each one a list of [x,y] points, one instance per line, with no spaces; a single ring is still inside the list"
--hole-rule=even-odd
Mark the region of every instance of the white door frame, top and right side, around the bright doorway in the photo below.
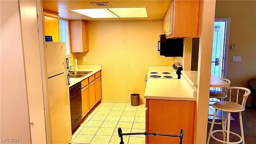
[[[223,22],[223,21],[226,22],[226,27],[225,27],[225,40],[224,40],[222,78],[226,78],[227,60],[228,60],[228,39],[229,39],[230,18],[215,18],[214,19],[214,22]]]

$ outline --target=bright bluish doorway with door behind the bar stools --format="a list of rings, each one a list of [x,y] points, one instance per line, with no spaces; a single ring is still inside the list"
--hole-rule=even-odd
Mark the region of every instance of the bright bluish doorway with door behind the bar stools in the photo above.
[[[211,74],[218,78],[226,78],[229,26],[230,18],[215,18],[214,20]],[[220,88],[216,88],[216,90],[220,90]],[[210,104],[217,100],[211,98]]]

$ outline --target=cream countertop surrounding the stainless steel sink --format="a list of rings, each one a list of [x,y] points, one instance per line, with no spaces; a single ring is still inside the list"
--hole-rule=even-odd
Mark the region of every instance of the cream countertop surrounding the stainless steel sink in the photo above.
[[[70,85],[68,87],[73,86],[74,84],[88,78],[89,76],[92,76],[96,72],[99,72],[101,70],[101,65],[78,65],[78,70],[74,71],[92,71],[90,74],[87,74],[83,76],[82,78],[70,78]]]

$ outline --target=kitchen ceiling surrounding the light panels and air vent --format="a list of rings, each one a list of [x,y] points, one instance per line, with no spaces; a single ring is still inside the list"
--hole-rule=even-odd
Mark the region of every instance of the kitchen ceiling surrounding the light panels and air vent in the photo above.
[[[92,6],[90,2],[108,2],[111,6]],[[43,0],[44,10],[58,12],[68,20],[162,20],[170,0]],[[70,9],[146,7],[148,18],[90,18]]]

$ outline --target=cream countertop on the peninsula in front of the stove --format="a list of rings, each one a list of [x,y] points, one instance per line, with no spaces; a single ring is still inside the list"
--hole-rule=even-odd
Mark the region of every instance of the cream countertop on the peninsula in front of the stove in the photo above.
[[[148,78],[144,98],[195,101],[195,94],[196,90],[191,94],[181,79]]]

